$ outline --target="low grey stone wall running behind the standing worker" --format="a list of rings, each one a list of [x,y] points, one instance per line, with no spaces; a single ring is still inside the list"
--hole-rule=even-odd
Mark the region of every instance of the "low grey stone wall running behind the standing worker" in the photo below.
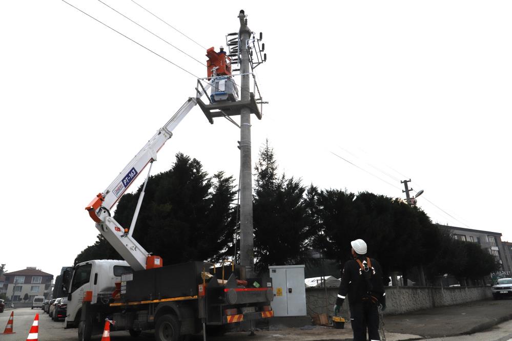
[[[325,310],[325,291],[327,291],[327,311]],[[308,315],[333,314],[338,288],[306,288],[306,308]],[[386,315],[452,306],[466,302],[490,299],[493,294],[490,287],[386,287]],[[348,299],[348,297],[347,297]],[[341,316],[349,316],[348,302],[345,300],[340,311]]]

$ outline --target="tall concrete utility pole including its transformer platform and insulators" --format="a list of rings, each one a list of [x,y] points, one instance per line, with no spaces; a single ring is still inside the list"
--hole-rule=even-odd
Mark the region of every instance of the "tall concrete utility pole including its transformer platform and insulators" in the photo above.
[[[253,237],[253,186],[252,186],[252,161],[251,161],[251,114],[261,119],[261,108],[264,102],[254,77],[254,69],[267,61],[267,54],[262,53],[265,50],[265,44],[261,42],[263,33],[260,32],[259,38],[256,38],[254,32],[247,27],[247,17],[245,12],[240,10],[238,14],[240,20],[240,29],[237,32],[226,35],[226,46],[229,54],[222,51],[225,60],[219,58],[219,53],[208,49],[209,68],[215,66],[215,69],[209,69],[209,80],[215,82],[218,77],[212,76],[212,70],[221,70],[217,76],[222,78],[222,82],[228,81],[226,91],[228,98],[216,98],[212,91],[212,100],[210,104],[205,104],[200,98],[197,98],[197,104],[200,106],[208,121],[213,124],[213,118],[224,117],[234,123],[240,129],[240,278],[246,279],[254,276],[254,237]],[[227,59],[226,59],[227,58]],[[231,70],[234,64],[240,66],[239,69]],[[228,66],[228,67],[226,67]],[[240,99],[238,100],[238,86],[232,77],[231,72],[240,71],[241,77]],[[228,80],[226,80],[228,77]],[[251,78],[254,81],[254,92],[251,92]],[[200,82],[198,81],[198,85]],[[231,89],[231,90],[230,90]],[[197,90],[197,89],[196,89]],[[204,90],[204,88],[203,88]],[[220,90],[220,89],[218,89]],[[256,94],[258,97],[256,97]],[[231,119],[230,116],[240,115],[240,125]]]

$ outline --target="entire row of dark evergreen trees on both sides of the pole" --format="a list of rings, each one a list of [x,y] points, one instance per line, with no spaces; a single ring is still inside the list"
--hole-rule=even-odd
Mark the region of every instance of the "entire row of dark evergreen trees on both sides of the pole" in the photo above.
[[[445,273],[478,279],[499,268],[478,244],[455,240],[402,199],[304,187],[300,178],[279,173],[268,141],[260,148],[254,170],[254,254],[259,271],[305,262],[312,250],[342,263],[351,257],[350,241],[359,238],[385,275],[399,271],[406,277],[421,266],[431,279]],[[118,203],[114,218],[123,227],[131,224],[141,187]],[[198,160],[178,153],[169,171],[150,177],[133,236],[165,264],[231,256],[238,230],[232,206],[235,189],[232,176],[209,176]],[[75,264],[105,258],[121,259],[98,235]]]

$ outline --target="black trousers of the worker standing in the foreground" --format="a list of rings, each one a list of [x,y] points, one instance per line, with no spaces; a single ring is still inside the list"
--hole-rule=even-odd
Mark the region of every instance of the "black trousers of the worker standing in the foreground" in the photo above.
[[[370,300],[350,305],[350,323],[354,333],[354,341],[380,340],[379,310]]]

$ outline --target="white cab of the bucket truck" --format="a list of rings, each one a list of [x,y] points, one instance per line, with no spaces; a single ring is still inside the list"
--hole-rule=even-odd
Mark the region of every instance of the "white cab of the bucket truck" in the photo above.
[[[92,291],[92,302],[107,303],[115,290],[115,282],[121,281],[121,274],[132,271],[126,261],[119,260],[94,260],[75,265],[69,282],[66,328],[78,326],[86,291]]]

